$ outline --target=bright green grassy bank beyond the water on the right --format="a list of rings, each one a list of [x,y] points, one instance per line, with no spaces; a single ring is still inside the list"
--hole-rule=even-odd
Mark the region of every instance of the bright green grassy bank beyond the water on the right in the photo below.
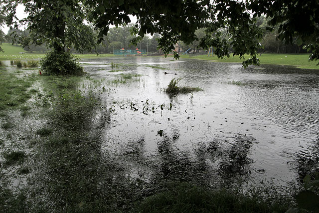
[[[240,59],[239,56],[230,56],[229,58],[219,59],[216,56],[207,56],[207,55],[196,55],[192,56],[181,55],[181,58],[192,58],[192,59],[201,59],[201,60],[211,60],[216,62],[236,62],[242,63],[243,59]],[[307,69],[319,69],[319,66],[316,66],[318,61],[308,61],[309,54],[272,54],[272,53],[263,53],[258,56],[261,64],[280,64],[280,65],[292,65],[297,66],[298,68],[307,68]],[[249,55],[245,56],[246,59],[249,58]]]

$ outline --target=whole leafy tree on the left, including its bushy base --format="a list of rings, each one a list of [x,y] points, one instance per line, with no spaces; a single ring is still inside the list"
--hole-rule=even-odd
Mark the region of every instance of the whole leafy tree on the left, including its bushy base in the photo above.
[[[84,24],[88,9],[82,0],[1,0],[8,26],[18,28],[25,24],[29,35],[22,45],[46,43],[52,50],[42,61],[42,69],[52,74],[68,74],[81,71],[81,67],[67,51],[74,47],[79,52],[90,51],[96,44],[96,35]],[[16,6],[23,4],[27,17],[16,18]]]

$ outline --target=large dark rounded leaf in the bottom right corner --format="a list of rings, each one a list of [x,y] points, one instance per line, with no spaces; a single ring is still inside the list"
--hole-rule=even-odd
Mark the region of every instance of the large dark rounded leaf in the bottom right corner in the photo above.
[[[319,212],[319,196],[309,190],[296,196],[298,205],[308,211]]]

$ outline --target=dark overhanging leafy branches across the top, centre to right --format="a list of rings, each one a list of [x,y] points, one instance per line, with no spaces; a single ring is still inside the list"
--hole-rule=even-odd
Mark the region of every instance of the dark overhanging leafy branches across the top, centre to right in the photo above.
[[[280,24],[278,38],[286,43],[306,43],[304,47],[312,51],[310,60],[319,58],[319,11],[318,0],[87,0],[93,8],[92,20],[100,28],[100,37],[108,33],[109,24],[129,23],[129,15],[138,19],[135,25],[137,43],[146,33],[160,33],[159,46],[165,54],[173,50],[173,45],[181,40],[185,44],[198,39],[195,31],[206,27],[200,45],[213,46],[215,54],[229,57],[233,55],[250,58],[243,62],[259,65],[257,51],[262,47],[263,29],[258,18],[269,18],[267,30]],[[307,14],[307,15],[305,15]],[[309,14],[309,15],[308,15]],[[218,29],[227,30],[223,35]],[[178,58],[178,54],[174,53]]]

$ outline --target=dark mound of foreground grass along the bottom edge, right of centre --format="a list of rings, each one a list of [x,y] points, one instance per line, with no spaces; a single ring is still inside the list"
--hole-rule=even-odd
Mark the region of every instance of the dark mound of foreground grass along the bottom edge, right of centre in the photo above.
[[[285,213],[290,202],[267,202],[260,195],[211,190],[187,183],[146,198],[133,212],[139,213]]]

